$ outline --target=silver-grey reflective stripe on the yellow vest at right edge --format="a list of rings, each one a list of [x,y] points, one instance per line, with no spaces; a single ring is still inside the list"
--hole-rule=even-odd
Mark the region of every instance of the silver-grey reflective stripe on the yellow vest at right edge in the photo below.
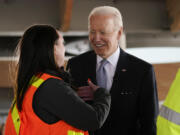
[[[180,125],[180,113],[177,113],[164,105],[161,107],[159,115],[170,122]]]

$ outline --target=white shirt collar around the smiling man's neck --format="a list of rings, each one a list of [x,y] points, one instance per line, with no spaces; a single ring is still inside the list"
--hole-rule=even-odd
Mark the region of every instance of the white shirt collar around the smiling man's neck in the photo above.
[[[116,49],[116,51],[115,51],[111,56],[109,56],[109,57],[107,58],[107,61],[108,61],[109,63],[111,63],[114,67],[116,67],[117,62],[118,62],[118,59],[119,59],[119,55],[120,55],[120,47],[118,47],[118,48]],[[99,55],[97,55],[97,64],[100,64],[100,62],[101,62],[102,59],[103,59],[102,57],[100,57]]]

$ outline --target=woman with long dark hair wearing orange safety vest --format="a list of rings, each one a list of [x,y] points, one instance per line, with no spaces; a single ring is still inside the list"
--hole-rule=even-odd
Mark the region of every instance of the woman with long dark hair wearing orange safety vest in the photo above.
[[[15,96],[5,135],[88,135],[104,123],[109,93],[91,81],[94,103],[77,96],[63,70],[65,48],[60,32],[49,25],[28,28],[18,44]]]

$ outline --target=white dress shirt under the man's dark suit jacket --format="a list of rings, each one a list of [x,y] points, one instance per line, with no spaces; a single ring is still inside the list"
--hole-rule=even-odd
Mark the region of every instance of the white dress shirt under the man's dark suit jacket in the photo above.
[[[104,67],[105,70],[106,70],[106,74],[107,74],[107,84],[106,84],[106,89],[107,90],[111,89],[111,86],[112,86],[112,83],[113,83],[113,77],[114,77],[114,74],[115,74],[115,71],[116,71],[116,66],[117,66],[118,59],[119,59],[119,55],[120,55],[120,48],[118,47],[116,49],[116,51],[111,56],[109,56],[107,58],[108,63]],[[97,70],[100,67],[102,59],[103,59],[102,57],[97,55],[96,73],[97,73]]]

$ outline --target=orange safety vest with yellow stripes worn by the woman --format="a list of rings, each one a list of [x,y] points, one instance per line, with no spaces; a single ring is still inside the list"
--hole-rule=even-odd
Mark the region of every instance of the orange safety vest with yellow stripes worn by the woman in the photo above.
[[[22,111],[18,111],[16,104],[9,111],[5,125],[5,135],[89,135],[88,131],[72,127],[63,120],[54,124],[47,124],[34,113],[32,108],[34,93],[49,78],[61,80],[61,78],[46,73],[32,78],[23,99]]]

